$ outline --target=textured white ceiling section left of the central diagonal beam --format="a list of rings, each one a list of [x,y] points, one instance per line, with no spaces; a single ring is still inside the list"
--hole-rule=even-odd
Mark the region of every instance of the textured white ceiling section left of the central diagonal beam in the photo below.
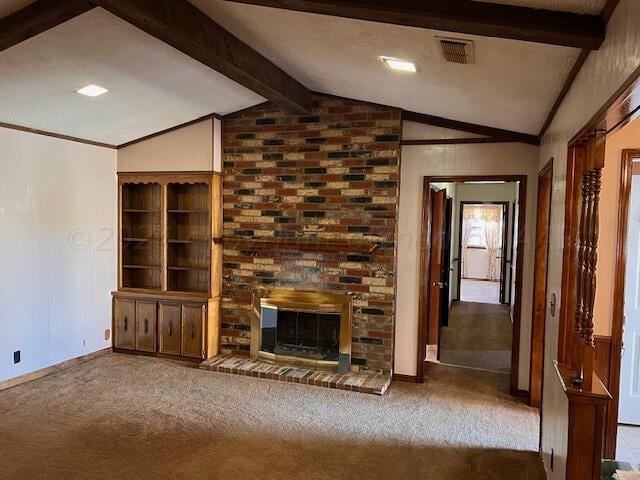
[[[0,122],[116,145],[264,101],[100,8],[0,52],[0,92]]]

